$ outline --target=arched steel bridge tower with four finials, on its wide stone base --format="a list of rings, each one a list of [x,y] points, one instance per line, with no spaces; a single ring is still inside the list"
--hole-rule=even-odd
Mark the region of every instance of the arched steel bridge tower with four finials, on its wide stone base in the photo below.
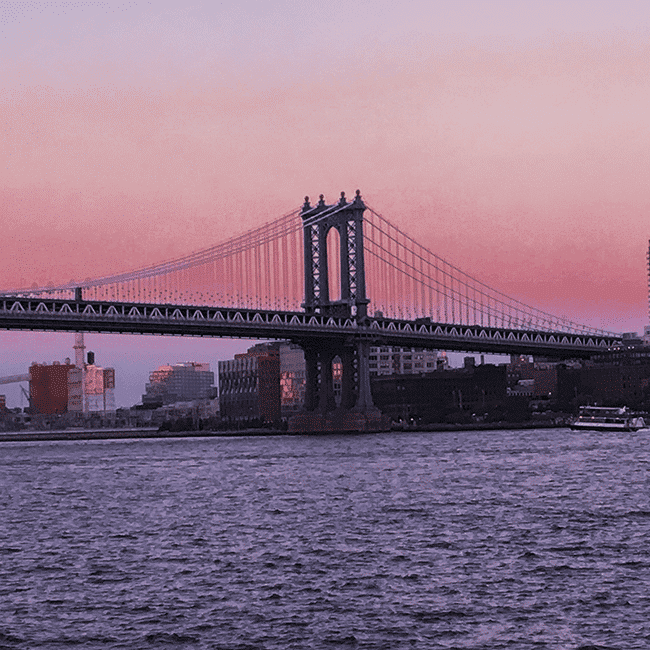
[[[341,192],[338,203],[327,205],[321,194],[312,207],[305,197],[301,217],[304,233],[305,302],[308,314],[356,319],[363,322],[368,314],[363,247],[363,213],[366,209],[357,190],[348,202]],[[340,298],[331,299],[328,268],[328,234],[339,234]],[[368,341],[341,338],[302,341],[307,371],[305,412],[289,423],[294,431],[373,431],[388,426],[372,402]],[[332,364],[342,366],[341,403],[334,399]]]

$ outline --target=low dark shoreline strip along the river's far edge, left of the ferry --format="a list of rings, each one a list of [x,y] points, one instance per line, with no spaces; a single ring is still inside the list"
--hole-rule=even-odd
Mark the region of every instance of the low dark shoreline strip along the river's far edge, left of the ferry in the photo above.
[[[502,431],[505,429],[561,429],[568,425],[550,422],[476,422],[472,424],[429,424],[419,427],[393,427],[393,433],[449,433],[456,431]],[[334,431],[333,434],[355,433],[367,435],[362,431]],[[378,432],[379,433],[379,432]],[[388,433],[388,432],[383,432]],[[65,440],[141,440],[168,438],[237,438],[241,436],[296,436],[296,435],[330,435],[329,432],[295,432],[280,429],[240,429],[222,431],[159,431],[157,427],[139,429],[84,429],[60,431],[6,431],[0,433],[2,442],[46,442]]]

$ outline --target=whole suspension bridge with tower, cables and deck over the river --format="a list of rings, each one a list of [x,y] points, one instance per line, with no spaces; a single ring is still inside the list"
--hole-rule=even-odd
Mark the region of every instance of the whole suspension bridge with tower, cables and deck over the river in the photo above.
[[[288,339],[305,351],[306,412],[323,418],[334,410],[337,357],[341,409],[377,415],[370,345],[575,358],[620,343],[468,275],[366,206],[358,190],[334,204],[305,197],[274,221],[174,260],[4,291],[0,328]]]

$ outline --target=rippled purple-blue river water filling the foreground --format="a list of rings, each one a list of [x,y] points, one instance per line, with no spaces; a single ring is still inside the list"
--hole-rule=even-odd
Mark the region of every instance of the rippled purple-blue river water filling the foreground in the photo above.
[[[0,446],[0,648],[650,647],[650,432]]]

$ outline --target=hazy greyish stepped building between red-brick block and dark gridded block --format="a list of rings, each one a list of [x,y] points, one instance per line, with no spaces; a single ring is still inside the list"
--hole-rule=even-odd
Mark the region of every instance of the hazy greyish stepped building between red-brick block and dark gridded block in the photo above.
[[[142,396],[144,405],[173,404],[215,396],[214,373],[209,363],[176,363],[160,366],[149,374]]]

